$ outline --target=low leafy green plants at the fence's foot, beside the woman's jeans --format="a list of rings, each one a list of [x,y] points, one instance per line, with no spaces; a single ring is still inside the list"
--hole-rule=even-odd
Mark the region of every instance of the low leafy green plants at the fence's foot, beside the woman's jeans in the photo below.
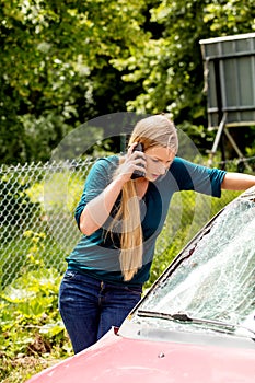
[[[1,378],[7,378],[13,365],[18,369],[22,358],[43,357],[50,360],[71,353],[58,312],[61,276],[55,268],[46,268],[40,255],[45,234],[27,231],[24,235],[31,241],[26,265],[21,276],[0,292]],[[42,368],[46,365],[44,363]],[[32,373],[35,371],[36,367]],[[21,375],[25,373],[21,372]],[[23,381],[21,375],[18,382]]]

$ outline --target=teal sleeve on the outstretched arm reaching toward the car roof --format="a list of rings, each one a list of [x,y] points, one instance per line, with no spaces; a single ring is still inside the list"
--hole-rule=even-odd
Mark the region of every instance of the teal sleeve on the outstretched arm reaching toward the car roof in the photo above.
[[[179,190],[195,190],[212,197],[221,196],[221,183],[225,171],[194,164],[176,158],[171,166]]]

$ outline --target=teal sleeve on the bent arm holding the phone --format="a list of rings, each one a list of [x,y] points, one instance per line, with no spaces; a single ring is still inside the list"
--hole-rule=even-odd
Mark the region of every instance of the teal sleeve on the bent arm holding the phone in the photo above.
[[[84,189],[81,196],[81,199],[76,208],[74,218],[80,229],[80,216],[86,206],[92,199],[97,197],[105,187],[112,182],[113,173],[117,167],[117,156],[112,159],[103,158],[97,160],[91,167],[90,173],[88,174]]]

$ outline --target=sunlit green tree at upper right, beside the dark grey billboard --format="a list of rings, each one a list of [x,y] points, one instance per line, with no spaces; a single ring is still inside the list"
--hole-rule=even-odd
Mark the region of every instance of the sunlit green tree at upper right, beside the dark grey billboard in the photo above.
[[[142,82],[143,91],[127,103],[128,109],[167,111],[206,149],[211,137],[204,128],[207,113],[199,40],[254,31],[253,3],[253,0],[163,0],[151,7],[150,20],[161,26],[161,34],[152,34],[141,51],[115,62],[119,70],[128,71],[125,81]]]

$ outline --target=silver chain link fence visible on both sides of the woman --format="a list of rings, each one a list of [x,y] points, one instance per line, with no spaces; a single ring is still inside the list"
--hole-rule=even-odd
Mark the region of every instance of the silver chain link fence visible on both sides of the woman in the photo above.
[[[31,268],[66,268],[66,256],[79,241],[73,219],[88,172],[95,160],[31,163],[1,166],[0,233],[1,288]],[[210,197],[183,192],[174,196],[157,253],[170,246],[183,227],[189,227],[182,240],[187,242],[206,221],[236,193],[223,195],[213,207]],[[200,198],[200,199],[199,199]]]

